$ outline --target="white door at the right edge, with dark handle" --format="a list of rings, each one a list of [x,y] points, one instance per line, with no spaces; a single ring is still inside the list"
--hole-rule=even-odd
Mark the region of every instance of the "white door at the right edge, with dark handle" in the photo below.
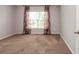
[[[79,5],[76,6],[76,31],[79,32]],[[79,54],[79,34],[75,34],[76,36],[76,53]]]

